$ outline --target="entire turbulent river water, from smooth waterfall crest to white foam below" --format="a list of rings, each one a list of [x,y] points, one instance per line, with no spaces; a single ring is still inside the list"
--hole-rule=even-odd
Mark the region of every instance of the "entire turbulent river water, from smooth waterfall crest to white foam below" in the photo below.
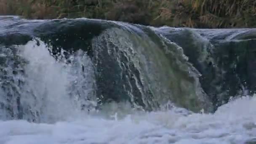
[[[0,24],[0,144],[256,143],[255,29]]]

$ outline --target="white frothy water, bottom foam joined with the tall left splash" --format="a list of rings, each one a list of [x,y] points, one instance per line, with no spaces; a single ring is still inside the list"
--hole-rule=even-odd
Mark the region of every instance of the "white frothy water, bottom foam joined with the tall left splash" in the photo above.
[[[81,80],[72,66],[56,61],[45,44],[30,41],[21,45],[19,55],[29,61],[28,87],[37,96],[33,109],[44,109],[41,123],[26,120],[0,121],[0,144],[253,144],[256,141],[256,96],[230,99],[213,114],[189,112],[178,107],[144,112],[125,104],[109,104],[107,112],[81,111],[80,104],[70,102],[66,86]],[[91,91],[91,63],[85,54],[77,56],[85,65]],[[74,60],[75,61],[75,60]],[[70,68],[71,67],[71,68]],[[43,97],[41,97],[43,98]],[[33,103],[27,99],[21,103]],[[0,113],[3,114],[3,113]],[[106,116],[108,115],[108,116]],[[120,116],[122,115],[122,116]]]

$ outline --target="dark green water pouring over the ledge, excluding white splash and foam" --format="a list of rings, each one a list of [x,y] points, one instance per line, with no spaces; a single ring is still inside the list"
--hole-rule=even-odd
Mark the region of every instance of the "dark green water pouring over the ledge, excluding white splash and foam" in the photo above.
[[[0,24],[0,108],[11,118],[24,119],[29,112],[21,101],[24,85],[30,83],[26,65],[31,60],[19,51],[31,41],[48,47],[56,61],[67,59],[66,64],[79,55],[77,51],[86,53],[93,76],[85,75],[83,63],[73,71],[85,81],[92,79],[93,90],[86,99],[98,99],[97,109],[111,101],[128,101],[132,107],[152,111],[169,101],[193,112],[214,112],[231,96],[256,91],[255,29],[154,28],[93,19],[11,16],[0,17]],[[69,89],[78,89],[69,93],[71,98],[74,93],[80,99],[88,95],[81,94],[83,85],[70,84]],[[37,97],[33,89],[26,90],[26,96]],[[40,112],[32,115],[40,117]]]

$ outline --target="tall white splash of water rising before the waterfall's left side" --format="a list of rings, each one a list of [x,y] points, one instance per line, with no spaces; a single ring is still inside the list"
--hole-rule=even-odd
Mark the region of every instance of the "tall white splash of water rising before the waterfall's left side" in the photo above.
[[[51,47],[36,40],[16,49],[15,57],[24,59],[20,66],[24,74],[8,73],[18,91],[11,95],[17,103],[2,102],[3,105],[11,104],[13,113],[20,115],[13,115],[14,118],[52,123],[86,114],[82,109],[94,106],[93,67],[86,53],[77,51],[66,59],[61,51],[56,61],[49,54]],[[8,70],[12,69],[7,67]],[[22,80],[22,86],[17,85],[15,77]],[[3,90],[0,92],[2,99],[8,95]]]

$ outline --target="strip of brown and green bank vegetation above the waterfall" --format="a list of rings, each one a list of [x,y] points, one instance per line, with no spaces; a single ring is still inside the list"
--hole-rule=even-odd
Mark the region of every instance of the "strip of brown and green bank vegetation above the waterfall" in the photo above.
[[[0,14],[87,17],[152,26],[256,27],[255,0],[0,0]]]

